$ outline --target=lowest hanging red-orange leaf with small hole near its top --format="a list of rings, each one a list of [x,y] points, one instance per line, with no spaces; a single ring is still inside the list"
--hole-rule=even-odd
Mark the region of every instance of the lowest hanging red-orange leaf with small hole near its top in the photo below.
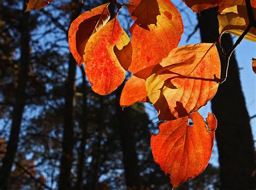
[[[211,158],[217,119],[208,114],[206,121],[208,126],[204,118],[194,112],[160,124],[160,132],[151,136],[154,161],[165,174],[170,174],[174,188],[203,172]]]

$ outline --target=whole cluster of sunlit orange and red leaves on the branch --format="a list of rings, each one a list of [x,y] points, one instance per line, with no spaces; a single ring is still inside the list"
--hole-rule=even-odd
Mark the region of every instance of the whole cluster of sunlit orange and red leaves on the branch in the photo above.
[[[219,6],[220,37],[225,32],[239,36],[235,46],[243,38],[256,41],[255,0],[183,1],[198,13]],[[118,8],[111,20],[110,3]],[[123,6],[134,20],[131,40],[118,22]],[[204,121],[197,111],[225,80],[220,77],[216,44],[178,47],[183,30],[180,13],[169,0],[131,0],[124,5],[111,1],[84,12],[69,30],[70,51],[78,66],[84,62],[94,92],[112,93],[130,71],[133,75],[123,88],[120,105],[150,102],[159,120],[165,121],[158,135],[152,135],[151,147],[173,187],[203,172],[211,158],[217,119],[208,114]],[[227,65],[234,48],[225,55]]]

